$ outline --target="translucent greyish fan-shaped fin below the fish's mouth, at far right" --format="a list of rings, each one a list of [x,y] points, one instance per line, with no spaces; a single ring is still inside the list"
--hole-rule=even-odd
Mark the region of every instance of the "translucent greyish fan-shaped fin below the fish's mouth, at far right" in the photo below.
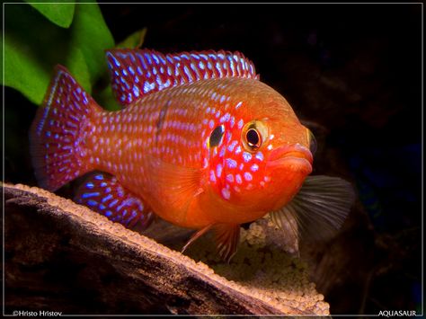
[[[281,228],[296,220],[297,227],[291,228],[299,237],[327,239],[342,226],[354,200],[350,182],[324,175],[308,176],[297,195],[270,216]]]

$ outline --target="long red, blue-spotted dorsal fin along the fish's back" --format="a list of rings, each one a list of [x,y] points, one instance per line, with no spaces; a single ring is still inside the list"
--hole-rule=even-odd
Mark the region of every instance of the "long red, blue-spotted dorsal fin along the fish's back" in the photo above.
[[[149,93],[203,79],[259,78],[253,62],[240,52],[209,50],[164,55],[150,49],[111,49],[106,56],[112,91],[123,105]]]

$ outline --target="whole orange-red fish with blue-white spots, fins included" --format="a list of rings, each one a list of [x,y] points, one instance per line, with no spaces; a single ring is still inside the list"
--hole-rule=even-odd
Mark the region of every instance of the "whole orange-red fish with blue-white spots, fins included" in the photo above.
[[[315,137],[242,53],[111,49],[106,58],[120,111],[55,67],[30,130],[40,187],[87,175],[77,203],[128,227],[160,217],[194,229],[182,252],[211,230],[228,262],[240,226],[267,214],[280,227],[296,220],[297,234],[342,226],[351,183],[310,176]]]

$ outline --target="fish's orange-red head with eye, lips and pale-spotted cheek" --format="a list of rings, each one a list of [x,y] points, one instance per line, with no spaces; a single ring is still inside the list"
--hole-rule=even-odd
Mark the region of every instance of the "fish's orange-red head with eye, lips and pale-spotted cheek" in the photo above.
[[[232,211],[243,222],[283,207],[312,172],[312,133],[288,102],[271,91],[247,99],[235,111],[234,125],[215,128],[223,138],[218,155],[210,157],[210,182],[223,215]],[[244,217],[236,217],[240,212]]]

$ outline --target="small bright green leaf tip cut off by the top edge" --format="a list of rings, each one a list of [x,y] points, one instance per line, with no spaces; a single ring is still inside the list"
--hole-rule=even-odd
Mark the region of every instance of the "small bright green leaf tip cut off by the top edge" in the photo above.
[[[43,14],[49,21],[62,28],[68,28],[73,22],[75,4],[73,0],[58,1],[57,4],[36,3],[24,0]],[[40,1],[42,2],[42,1]]]

